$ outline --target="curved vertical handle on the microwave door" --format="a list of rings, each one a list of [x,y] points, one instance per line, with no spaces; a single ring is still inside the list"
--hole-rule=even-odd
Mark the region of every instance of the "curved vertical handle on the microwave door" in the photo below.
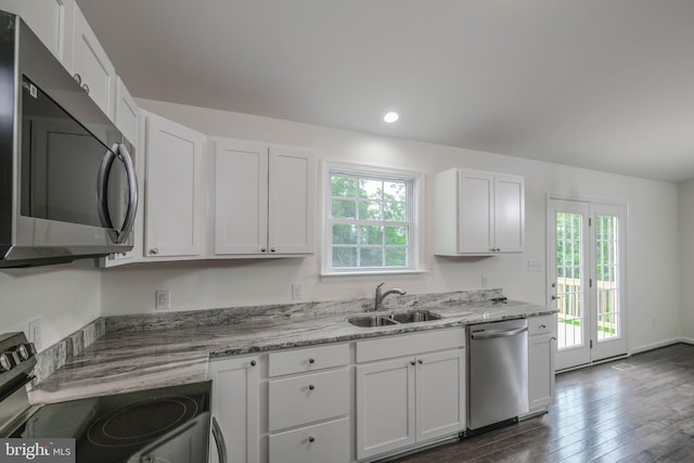
[[[120,230],[116,232],[115,242],[117,244],[125,243],[130,236],[132,226],[134,223],[134,216],[138,211],[138,178],[134,173],[134,166],[128,149],[124,143],[114,143],[111,150],[106,151],[101,166],[99,167],[99,178],[97,184],[97,195],[99,203],[99,219],[101,224],[106,228],[114,228],[111,222],[108,213],[108,172],[113,167],[113,162],[116,156],[123,160],[123,165],[126,168],[126,175],[128,176],[128,209],[126,210],[126,217]]]

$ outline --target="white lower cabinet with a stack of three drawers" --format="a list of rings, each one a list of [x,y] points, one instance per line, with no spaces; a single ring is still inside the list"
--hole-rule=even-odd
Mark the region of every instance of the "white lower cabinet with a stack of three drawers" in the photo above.
[[[270,463],[348,463],[351,387],[349,345],[269,356]]]

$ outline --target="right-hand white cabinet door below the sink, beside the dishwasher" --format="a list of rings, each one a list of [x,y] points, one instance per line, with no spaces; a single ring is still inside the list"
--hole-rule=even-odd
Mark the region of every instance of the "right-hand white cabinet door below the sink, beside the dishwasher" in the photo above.
[[[463,349],[417,356],[416,441],[465,429]]]

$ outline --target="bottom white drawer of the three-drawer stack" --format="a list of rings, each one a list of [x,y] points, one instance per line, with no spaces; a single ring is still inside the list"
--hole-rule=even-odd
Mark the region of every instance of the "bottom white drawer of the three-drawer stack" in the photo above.
[[[347,417],[271,434],[270,463],[347,463],[349,436]]]

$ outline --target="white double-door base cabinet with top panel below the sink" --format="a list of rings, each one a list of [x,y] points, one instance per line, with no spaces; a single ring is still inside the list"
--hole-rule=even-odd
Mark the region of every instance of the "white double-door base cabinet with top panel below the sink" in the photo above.
[[[464,430],[464,338],[457,329],[357,343],[358,460]],[[404,356],[383,357],[394,351]]]

